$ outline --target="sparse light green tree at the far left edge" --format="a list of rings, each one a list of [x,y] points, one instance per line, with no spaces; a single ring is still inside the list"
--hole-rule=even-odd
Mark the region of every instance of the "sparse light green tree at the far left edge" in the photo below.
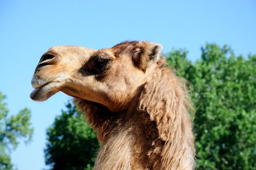
[[[33,128],[30,110],[25,108],[9,116],[5,98],[0,92],[0,170],[13,170],[10,153],[17,147],[20,137],[25,138],[25,142],[31,141]]]

